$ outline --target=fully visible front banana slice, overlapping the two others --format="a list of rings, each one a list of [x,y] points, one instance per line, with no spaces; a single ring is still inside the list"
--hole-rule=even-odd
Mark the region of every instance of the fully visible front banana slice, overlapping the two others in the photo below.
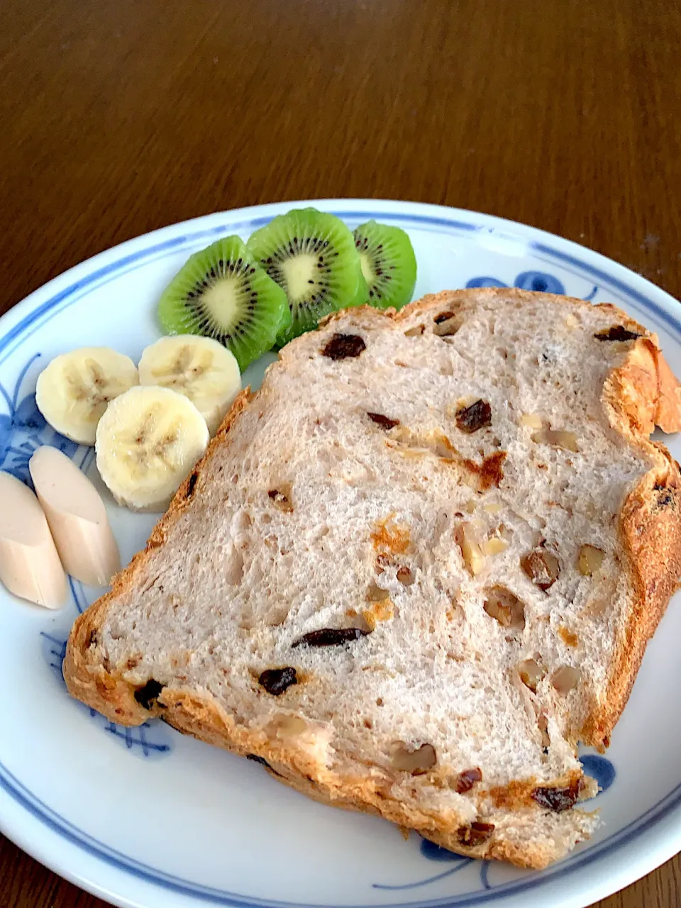
[[[170,388],[137,387],[97,426],[97,468],[119,504],[163,510],[208,445],[206,420]]]

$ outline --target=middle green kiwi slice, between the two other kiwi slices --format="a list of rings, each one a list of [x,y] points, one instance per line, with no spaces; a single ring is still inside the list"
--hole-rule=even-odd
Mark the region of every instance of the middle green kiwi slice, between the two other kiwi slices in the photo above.
[[[352,233],[333,214],[315,208],[280,214],[252,234],[248,248],[286,291],[291,325],[279,333],[281,347],[329,312],[367,301]]]

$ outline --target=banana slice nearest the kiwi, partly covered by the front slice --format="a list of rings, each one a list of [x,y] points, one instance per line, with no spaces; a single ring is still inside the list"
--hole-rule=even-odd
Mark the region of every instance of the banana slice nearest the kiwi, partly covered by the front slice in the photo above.
[[[140,360],[140,384],[172,388],[192,401],[211,435],[242,390],[239,364],[212,338],[179,334],[147,347]]]

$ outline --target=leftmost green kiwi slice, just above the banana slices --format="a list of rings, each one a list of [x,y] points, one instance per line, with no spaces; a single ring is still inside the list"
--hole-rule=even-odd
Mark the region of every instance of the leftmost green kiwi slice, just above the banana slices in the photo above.
[[[163,291],[158,317],[168,334],[202,334],[232,350],[244,370],[291,324],[286,294],[238,236],[194,252]]]

